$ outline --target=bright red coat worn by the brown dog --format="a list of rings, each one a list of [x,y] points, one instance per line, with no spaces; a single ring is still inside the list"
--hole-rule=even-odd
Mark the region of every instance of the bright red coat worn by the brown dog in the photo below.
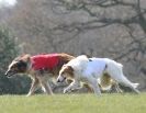
[[[32,68],[34,70],[55,68],[59,61],[58,54],[43,54],[32,56]]]

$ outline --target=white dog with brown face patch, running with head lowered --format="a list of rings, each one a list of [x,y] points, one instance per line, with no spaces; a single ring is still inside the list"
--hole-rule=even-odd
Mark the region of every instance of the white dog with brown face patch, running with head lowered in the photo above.
[[[57,81],[63,82],[66,78],[74,79],[74,82],[64,90],[64,93],[79,88],[80,81],[82,81],[90,84],[94,93],[101,94],[99,83],[101,87],[104,86],[102,82],[98,83],[98,79],[102,78],[103,75],[106,74],[110,77],[110,81],[114,80],[117,83],[130,87],[136,93],[139,93],[136,89],[138,83],[132,83],[123,75],[122,68],[123,66],[120,63],[109,58],[88,58],[87,56],[81,55],[61,67]],[[104,83],[109,82],[106,80],[102,81],[104,81]]]

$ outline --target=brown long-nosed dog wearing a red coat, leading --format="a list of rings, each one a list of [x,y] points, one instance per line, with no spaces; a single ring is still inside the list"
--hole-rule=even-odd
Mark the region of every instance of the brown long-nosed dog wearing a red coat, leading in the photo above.
[[[12,77],[16,74],[26,74],[32,79],[32,86],[27,93],[32,95],[41,86],[44,92],[53,94],[48,84],[48,80],[57,77],[63,65],[75,58],[68,54],[42,54],[42,55],[23,55],[16,57],[9,65],[5,72],[7,77]]]

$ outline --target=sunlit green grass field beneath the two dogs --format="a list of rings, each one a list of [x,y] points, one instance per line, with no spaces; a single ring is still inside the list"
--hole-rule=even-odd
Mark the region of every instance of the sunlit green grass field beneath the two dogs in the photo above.
[[[146,113],[146,93],[1,95],[0,113]]]

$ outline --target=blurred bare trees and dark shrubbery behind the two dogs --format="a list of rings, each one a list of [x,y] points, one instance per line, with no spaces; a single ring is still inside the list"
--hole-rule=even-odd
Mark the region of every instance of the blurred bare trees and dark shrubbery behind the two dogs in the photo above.
[[[0,0],[1,94],[27,92],[27,77],[3,76],[25,53],[112,58],[146,91],[146,0]]]

